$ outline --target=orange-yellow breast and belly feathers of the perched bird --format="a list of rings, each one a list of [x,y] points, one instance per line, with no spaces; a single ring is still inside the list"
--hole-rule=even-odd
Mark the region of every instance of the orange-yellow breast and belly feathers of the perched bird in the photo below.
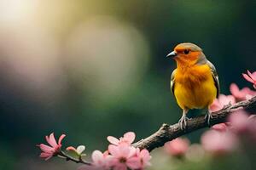
[[[208,65],[195,65],[189,69],[177,69],[174,95],[182,109],[202,109],[216,98],[211,69]]]

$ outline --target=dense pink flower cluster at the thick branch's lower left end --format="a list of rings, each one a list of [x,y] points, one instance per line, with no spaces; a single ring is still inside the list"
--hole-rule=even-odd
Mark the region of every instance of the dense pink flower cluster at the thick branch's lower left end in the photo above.
[[[131,146],[134,139],[135,133],[132,132],[125,133],[120,139],[108,137],[112,143],[108,145],[108,150],[104,153],[95,150],[91,156],[91,166],[85,165],[79,170],[143,170],[150,165],[151,156],[148,150]]]

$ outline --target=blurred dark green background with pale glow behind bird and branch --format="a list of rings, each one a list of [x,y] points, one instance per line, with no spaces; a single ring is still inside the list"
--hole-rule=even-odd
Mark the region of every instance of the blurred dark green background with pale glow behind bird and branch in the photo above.
[[[90,155],[106,149],[108,135],[142,139],[177,122],[176,64],[165,56],[179,42],[203,48],[222,93],[230,82],[247,86],[255,8],[253,0],[0,0],[0,169],[78,167],[38,157],[51,132]]]

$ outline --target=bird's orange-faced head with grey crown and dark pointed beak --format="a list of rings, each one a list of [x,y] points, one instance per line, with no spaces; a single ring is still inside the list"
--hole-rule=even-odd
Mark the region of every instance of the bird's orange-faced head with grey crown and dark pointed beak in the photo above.
[[[194,43],[184,42],[178,44],[172,53],[167,54],[166,57],[175,59],[177,62],[183,64],[195,64],[201,58],[205,58],[205,55],[202,53],[202,49]]]

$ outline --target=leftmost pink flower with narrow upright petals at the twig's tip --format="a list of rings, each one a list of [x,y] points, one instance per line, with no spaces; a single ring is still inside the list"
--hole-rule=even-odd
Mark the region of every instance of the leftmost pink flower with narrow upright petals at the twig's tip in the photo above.
[[[46,141],[49,145],[46,144],[38,144],[38,147],[43,151],[40,154],[40,157],[44,158],[45,160],[49,160],[52,156],[55,156],[58,154],[58,152],[61,150],[61,141],[64,139],[66,135],[61,134],[61,137],[58,140],[58,144],[56,143],[54,133],[51,133],[48,136],[45,136]]]

